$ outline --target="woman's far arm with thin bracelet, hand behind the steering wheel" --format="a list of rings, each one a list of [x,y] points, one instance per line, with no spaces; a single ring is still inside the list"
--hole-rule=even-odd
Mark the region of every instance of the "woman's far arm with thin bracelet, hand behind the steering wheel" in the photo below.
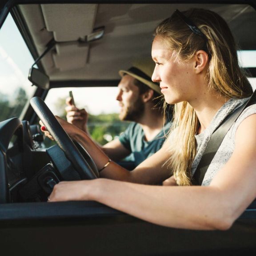
[[[58,116],[56,116],[56,118],[68,135],[84,146],[94,160],[98,170],[103,168],[104,165],[108,163],[109,156],[105,154],[102,148],[95,144],[95,142],[90,138],[90,136],[87,135],[86,132],[77,128],[73,124],[69,124]],[[40,124],[43,125],[41,121]],[[48,131],[43,129],[42,131],[46,136],[52,139],[52,136]],[[168,154],[166,154],[166,149],[163,147],[156,152],[156,154],[149,157],[147,160],[137,166],[132,172],[122,168],[120,165],[112,161],[106,168],[104,168],[103,171],[100,172],[100,177],[142,184],[161,184],[164,180],[171,176],[171,172],[168,171],[167,166],[163,167],[163,164],[167,158]]]

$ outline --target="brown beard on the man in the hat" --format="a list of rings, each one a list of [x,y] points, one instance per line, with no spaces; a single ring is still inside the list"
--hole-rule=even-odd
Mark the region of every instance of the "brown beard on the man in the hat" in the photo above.
[[[124,109],[119,114],[119,118],[122,121],[138,122],[144,113],[144,109],[144,103],[141,98],[138,97],[132,106],[124,107]]]

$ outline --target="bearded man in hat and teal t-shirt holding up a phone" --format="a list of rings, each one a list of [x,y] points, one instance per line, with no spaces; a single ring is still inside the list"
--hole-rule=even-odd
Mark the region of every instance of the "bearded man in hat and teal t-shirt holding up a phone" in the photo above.
[[[133,166],[121,164],[126,168],[135,168],[158,151],[165,139],[164,134],[170,128],[170,121],[163,125],[163,99],[160,87],[152,82],[151,75],[154,63],[151,61],[137,62],[128,70],[120,70],[122,77],[118,84],[119,92],[116,100],[120,104],[120,120],[132,121],[118,139],[112,140],[101,149],[115,161],[132,161]],[[67,120],[88,133],[88,113],[72,105],[67,99]],[[163,128],[164,126],[164,128]]]

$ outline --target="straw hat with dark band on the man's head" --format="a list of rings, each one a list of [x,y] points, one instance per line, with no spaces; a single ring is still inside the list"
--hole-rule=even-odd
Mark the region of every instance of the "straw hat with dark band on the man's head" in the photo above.
[[[119,75],[123,77],[124,74],[128,74],[129,76],[136,78],[143,84],[148,85],[152,90],[161,94],[159,84],[154,83],[151,80],[154,68],[155,64],[151,59],[137,60],[128,70],[120,70]]]

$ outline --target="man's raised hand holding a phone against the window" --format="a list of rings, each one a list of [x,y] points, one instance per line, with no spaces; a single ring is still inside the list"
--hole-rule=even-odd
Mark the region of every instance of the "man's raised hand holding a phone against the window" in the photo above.
[[[88,121],[88,113],[85,109],[78,109],[76,106],[72,105],[72,100],[70,97],[66,99],[66,104],[68,105],[65,110],[67,112],[67,120],[68,123],[76,125],[76,127],[80,128],[84,132],[87,131],[87,121]]]

